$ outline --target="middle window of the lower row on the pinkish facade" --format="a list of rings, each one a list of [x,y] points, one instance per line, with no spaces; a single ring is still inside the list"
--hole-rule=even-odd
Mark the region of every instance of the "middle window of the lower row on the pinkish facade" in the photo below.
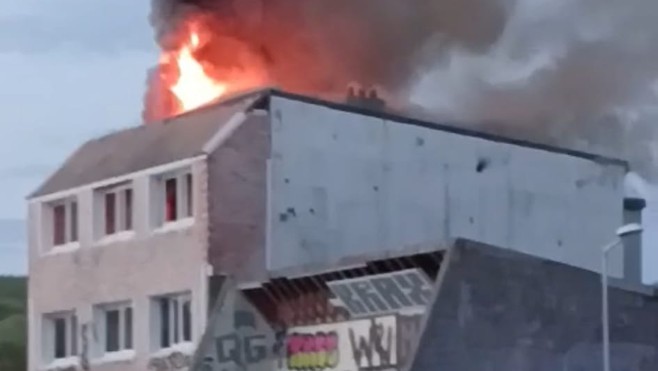
[[[97,306],[95,315],[101,354],[133,349],[133,309],[130,303]]]

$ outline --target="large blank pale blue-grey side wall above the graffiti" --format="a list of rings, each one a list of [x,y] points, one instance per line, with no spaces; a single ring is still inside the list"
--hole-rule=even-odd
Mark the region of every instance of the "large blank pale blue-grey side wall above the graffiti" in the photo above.
[[[623,163],[279,96],[270,112],[269,269],[465,237],[598,270],[622,223]]]

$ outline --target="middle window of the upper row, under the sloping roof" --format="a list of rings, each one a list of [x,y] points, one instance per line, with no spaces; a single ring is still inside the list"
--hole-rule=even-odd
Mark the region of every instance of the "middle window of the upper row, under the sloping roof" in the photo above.
[[[133,190],[130,184],[113,186],[100,191],[100,212],[97,215],[100,236],[133,229]]]

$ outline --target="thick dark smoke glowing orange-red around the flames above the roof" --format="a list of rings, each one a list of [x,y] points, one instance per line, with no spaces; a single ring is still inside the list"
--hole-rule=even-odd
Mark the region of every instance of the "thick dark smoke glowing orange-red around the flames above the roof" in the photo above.
[[[286,90],[344,95],[358,81],[404,98],[418,66],[430,65],[431,46],[481,50],[498,38],[505,12],[497,1],[152,0],[151,24],[166,50],[181,24],[201,15],[217,35],[206,63],[264,65]]]

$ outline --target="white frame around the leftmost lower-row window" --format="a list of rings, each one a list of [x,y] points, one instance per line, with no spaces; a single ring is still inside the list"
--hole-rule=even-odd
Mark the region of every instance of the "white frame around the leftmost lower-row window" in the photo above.
[[[55,322],[64,320],[64,356],[57,357]],[[75,362],[78,359],[79,326],[75,311],[63,311],[43,315],[42,358],[45,364]]]

